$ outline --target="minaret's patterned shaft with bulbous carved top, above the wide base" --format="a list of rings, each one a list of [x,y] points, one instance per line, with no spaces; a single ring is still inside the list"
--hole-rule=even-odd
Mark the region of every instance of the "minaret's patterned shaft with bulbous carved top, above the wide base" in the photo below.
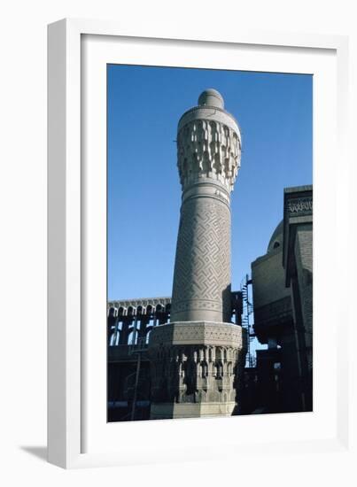
[[[230,192],[240,164],[237,121],[208,89],[182,115],[182,184],[171,321],[230,321]]]

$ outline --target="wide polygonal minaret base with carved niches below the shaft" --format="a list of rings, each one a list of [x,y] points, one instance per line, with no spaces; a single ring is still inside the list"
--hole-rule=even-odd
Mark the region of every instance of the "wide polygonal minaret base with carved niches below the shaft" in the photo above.
[[[151,331],[151,419],[237,413],[244,330],[232,323],[176,321]]]

